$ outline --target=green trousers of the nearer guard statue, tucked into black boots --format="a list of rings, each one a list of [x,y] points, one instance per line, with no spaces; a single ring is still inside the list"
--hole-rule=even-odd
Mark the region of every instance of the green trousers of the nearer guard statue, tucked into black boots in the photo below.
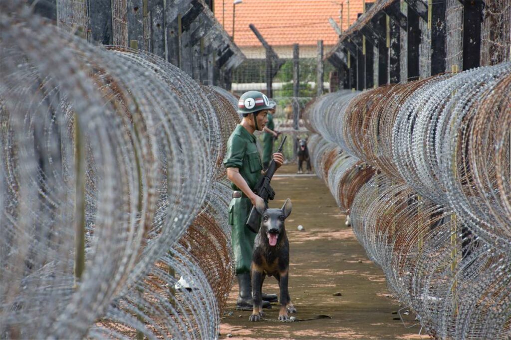
[[[233,227],[230,237],[236,261],[236,274],[250,273],[256,235],[246,226],[251,209],[252,202],[246,197],[233,198],[229,204],[229,224]]]

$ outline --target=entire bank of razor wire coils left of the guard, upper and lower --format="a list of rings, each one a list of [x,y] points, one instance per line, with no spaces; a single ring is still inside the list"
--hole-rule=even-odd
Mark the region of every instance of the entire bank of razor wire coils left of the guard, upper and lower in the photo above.
[[[230,99],[21,5],[0,14],[0,334],[216,337],[233,281]],[[191,292],[172,292],[179,275]]]

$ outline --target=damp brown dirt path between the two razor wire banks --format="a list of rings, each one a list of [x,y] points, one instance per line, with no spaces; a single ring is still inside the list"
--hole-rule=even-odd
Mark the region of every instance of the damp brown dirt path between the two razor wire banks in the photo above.
[[[295,165],[278,173],[294,173]],[[291,248],[289,292],[299,319],[328,315],[332,319],[278,323],[248,322],[249,311],[235,310],[238,285],[233,286],[220,327],[220,338],[429,338],[418,334],[420,326],[406,329],[392,312],[398,311],[383,272],[366,256],[350,227],[344,225],[336,202],[317,177],[275,177],[277,193],[270,207],[293,203],[286,230]],[[305,231],[298,231],[303,225]],[[277,293],[273,277],[263,291]],[[334,296],[341,293],[341,296]],[[278,306],[265,309],[267,319],[278,318]],[[404,310],[403,310],[404,311]],[[414,316],[404,316],[407,326]],[[398,320],[394,320],[398,319]],[[230,337],[230,336],[229,336]]]

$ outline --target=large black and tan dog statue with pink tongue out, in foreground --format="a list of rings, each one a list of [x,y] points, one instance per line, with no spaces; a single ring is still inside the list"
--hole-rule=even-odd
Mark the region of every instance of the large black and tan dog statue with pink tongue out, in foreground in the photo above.
[[[280,311],[278,320],[287,321],[288,312],[296,313],[288,291],[289,241],[284,221],[291,214],[291,200],[288,198],[282,209],[268,209],[264,204],[256,206],[262,217],[261,228],[254,241],[252,254],[252,298],[253,310],[249,321],[260,321],[264,316],[262,308],[263,282],[268,276],[275,276],[280,286]]]

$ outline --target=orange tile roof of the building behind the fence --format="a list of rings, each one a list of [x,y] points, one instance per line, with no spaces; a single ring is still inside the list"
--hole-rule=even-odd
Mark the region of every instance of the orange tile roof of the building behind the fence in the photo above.
[[[273,46],[316,45],[323,39],[325,45],[334,45],[338,36],[328,22],[332,17],[339,22],[342,6],[343,30],[362,13],[363,0],[243,0],[236,5],[235,43],[240,47],[261,46],[249,29],[253,23]],[[367,3],[371,1],[366,1]],[[225,12],[222,10],[225,5]],[[349,4],[349,5],[348,5]],[[347,20],[348,9],[350,20]],[[233,33],[233,0],[215,0],[215,17],[228,34]]]

